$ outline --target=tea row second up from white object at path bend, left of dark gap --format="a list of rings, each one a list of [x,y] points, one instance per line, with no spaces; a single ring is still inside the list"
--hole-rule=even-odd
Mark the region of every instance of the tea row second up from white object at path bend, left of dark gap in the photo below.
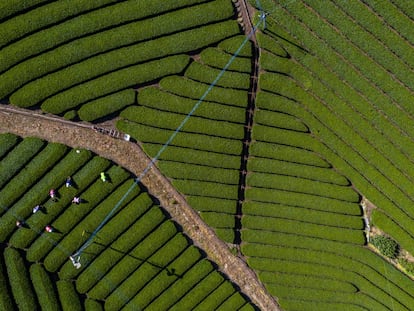
[[[127,120],[156,128],[175,130],[185,116],[182,114],[163,112],[146,107],[128,107],[121,113]],[[243,139],[244,129],[240,124],[199,118],[193,116],[182,127],[181,132],[205,134],[217,137]]]

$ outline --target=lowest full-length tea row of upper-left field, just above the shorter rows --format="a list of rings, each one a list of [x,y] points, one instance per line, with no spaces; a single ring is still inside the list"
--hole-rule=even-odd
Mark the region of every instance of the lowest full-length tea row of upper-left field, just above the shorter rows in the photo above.
[[[13,93],[10,97],[10,102],[24,107],[36,105],[46,97],[86,80],[165,55],[197,50],[220,41],[237,31],[237,24],[233,21],[226,21],[100,54],[26,84]],[[175,44],[176,42],[180,42],[180,44],[177,45]],[[161,60],[158,62],[161,62]],[[173,66],[173,64],[170,66]],[[57,80],[59,80],[59,83],[56,83]],[[39,89],[42,91],[39,92]]]

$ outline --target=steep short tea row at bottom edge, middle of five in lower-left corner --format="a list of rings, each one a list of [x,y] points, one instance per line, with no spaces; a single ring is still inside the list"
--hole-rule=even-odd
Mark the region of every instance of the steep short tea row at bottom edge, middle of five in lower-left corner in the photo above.
[[[57,293],[53,287],[52,280],[42,265],[33,264],[30,266],[30,278],[42,310],[59,309]]]

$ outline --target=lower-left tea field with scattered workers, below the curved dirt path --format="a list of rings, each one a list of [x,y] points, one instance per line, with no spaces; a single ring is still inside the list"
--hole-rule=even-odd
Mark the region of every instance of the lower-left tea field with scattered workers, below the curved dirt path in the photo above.
[[[76,269],[68,257],[134,179],[87,150],[38,138],[2,134],[0,152],[2,310],[255,310],[142,185]],[[100,179],[102,171],[110,182]],[[74,196],[82,202],[71,203]]]

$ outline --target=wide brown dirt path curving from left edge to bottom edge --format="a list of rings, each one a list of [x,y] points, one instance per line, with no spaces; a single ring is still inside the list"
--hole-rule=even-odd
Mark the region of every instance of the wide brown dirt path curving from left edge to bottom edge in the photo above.
[[[36,136],[73,148],[88,149],[112,160],[138,176],[150,163],[150,158],[135,143],[98,133],[88,124],[74,123],[57,117],[0,105],[0,133],[22,137]],[[142,178],[149,193],[182,226],[194,244],[203,249],[219,269],[261,310],[280,310],[276,300],[267,293],[256,274],[207,226],[178,193],[168,179],[152,167]]]

